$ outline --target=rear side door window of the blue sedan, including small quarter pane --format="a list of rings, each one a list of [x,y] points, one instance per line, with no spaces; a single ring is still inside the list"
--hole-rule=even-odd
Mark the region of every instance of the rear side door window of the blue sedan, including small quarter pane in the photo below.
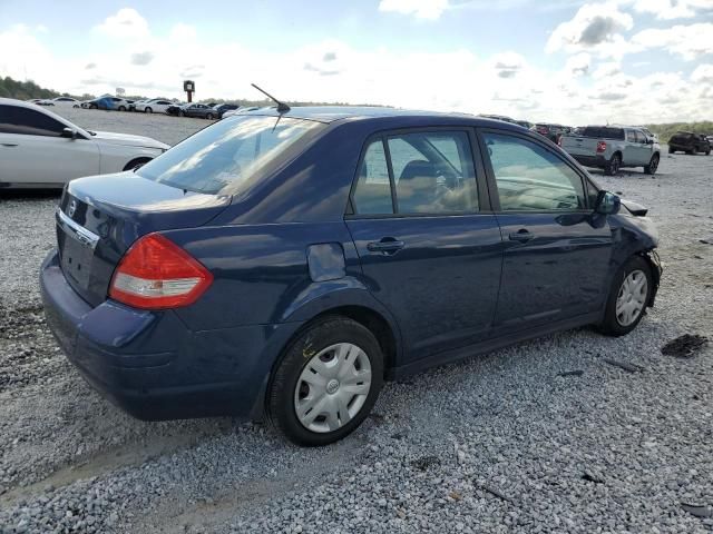
[[[364,152],[352,197],[355,215],[478,211],[466,131],[393,135],[383,142],[372,141]]]

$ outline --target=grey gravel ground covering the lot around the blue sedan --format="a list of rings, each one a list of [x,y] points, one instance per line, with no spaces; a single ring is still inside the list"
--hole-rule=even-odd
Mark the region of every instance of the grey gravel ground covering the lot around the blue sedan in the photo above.
[[[206,125],[67,116],[166,142]],[[141,423],[100,398],[42,318],[57,199],[0,198],[0,532],[713,532],[682,506],[713,507],[713,350],[661,353],[713,337],[711,176],[713,158],[678,155],[655,178],[597,177],[661,230],[664,281],[633,334],[566,332],[389,384],[321,449],[229,418]]]

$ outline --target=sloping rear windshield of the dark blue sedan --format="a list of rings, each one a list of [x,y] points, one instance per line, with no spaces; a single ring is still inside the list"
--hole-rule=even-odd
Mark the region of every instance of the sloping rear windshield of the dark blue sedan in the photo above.
[[[231,192],[257,178],[305,134],[324,125],[285,117],[234,116],[179,142],[140,167],[143,178],[188,191]]]

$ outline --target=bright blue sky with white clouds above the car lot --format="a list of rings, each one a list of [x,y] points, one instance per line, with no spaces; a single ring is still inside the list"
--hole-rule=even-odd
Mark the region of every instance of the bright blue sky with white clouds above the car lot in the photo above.
[[[0,0],[0,76],[573,126],[713,119],[713,0]]]

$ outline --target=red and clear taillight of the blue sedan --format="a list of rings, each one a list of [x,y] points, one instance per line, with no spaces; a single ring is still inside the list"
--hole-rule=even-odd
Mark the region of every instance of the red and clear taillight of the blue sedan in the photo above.
[[[143,309],[178,308],[197,300],[213,275],[160,234],[149,234],[128,249],[114,271],[109,297]]]

